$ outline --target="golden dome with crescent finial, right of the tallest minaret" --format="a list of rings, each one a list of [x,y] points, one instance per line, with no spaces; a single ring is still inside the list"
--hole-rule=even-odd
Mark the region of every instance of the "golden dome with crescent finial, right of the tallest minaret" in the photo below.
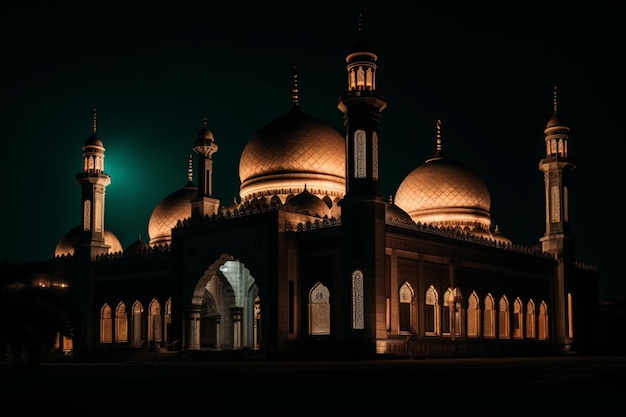
[[[491,227],[491,196],[483,180],[467,166],[443,156],[409,173],[398,187],[395,203],[416,223]]]

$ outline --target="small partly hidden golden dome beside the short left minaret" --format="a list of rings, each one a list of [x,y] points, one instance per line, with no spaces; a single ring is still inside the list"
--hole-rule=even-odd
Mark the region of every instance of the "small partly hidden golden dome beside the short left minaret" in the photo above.
[[[157,204],[148,222],[150,246],[171,243],[172,229],[176,227],[178,220],[191,217],[191,201],[197,196],[198,187],[188,182]]]

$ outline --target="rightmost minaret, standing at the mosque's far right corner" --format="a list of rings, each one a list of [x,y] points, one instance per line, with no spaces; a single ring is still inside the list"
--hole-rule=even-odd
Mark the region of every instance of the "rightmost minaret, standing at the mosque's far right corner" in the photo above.
[[[555,281],[556,320],[554,336],[569,350],[573,335],[572,288],[574,245],[569,228],[569,177],[576,167],[569,157],[569,127],[557,114],[557,89],[554,87],[554,115],[544,130],[546,156],[539,161],[544,173],[546,233],[540,239],[544,252],[557,260]]]

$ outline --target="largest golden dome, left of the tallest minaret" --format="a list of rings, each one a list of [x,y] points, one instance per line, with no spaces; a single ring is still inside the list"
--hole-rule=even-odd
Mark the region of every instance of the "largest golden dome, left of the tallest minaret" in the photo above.
[[[322,198],[343,196],[345,141],[327,123],[293,106],[248,141],[239,160],[242,200],[277,195],[285,202],[307,185]]]

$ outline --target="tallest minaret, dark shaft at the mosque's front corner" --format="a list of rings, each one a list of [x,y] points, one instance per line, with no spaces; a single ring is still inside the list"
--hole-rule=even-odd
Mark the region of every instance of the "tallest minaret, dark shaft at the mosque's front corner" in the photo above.
[[[344,276],[342,333],[368,339],[372,349],[386,337],[385,209],[379,192],[378,127],[387,107],[377,90],[378,57],[365,42],[359,12],[358,40],[346,56],[347,90],[339,98],[346,128],[346,194],[341,206]]]

